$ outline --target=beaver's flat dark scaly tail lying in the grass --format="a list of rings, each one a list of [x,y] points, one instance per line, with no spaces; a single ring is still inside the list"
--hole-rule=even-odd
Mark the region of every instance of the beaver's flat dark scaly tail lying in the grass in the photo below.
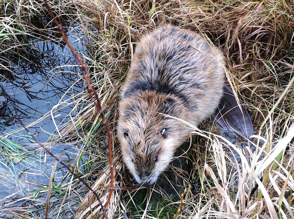
[[[253,125],[244,103],[238,100],[238,104],[233,91],[227,85],[224,85],[223,89],[224,94],[212,118],[221,128],[236,131],[247,138],[250,137],[253,134]]]

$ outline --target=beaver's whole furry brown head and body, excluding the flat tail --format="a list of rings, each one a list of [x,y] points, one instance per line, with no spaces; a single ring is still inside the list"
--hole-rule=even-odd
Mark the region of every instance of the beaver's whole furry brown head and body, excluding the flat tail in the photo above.
[[[144,35],[121,88],[117,136],[135,180],[152,184],[195,126],[217,108],[224,57],[202,36],[165,25]]]

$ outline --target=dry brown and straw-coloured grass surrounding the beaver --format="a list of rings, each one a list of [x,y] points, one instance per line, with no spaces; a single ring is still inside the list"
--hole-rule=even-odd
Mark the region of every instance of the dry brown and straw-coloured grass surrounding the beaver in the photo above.
[[[30,23],[33,18],[48,15],[38,2],[22,1],[22,5],[5,2],[8,5],[6,11],[13,15],[7,13],[1,23],[9,24],[10,20],[15,23],[5,31],[16,33],[14,29],[17,29],[31,34],[34,31]],[[50,4],[60,18],[78,22],[86,34],[85,43],[90,51],[88,66],[100,92],[104,110],[108,112],[107,119],[114,130],[114,137],[120,85],[131,62],[135,42],[145,32],[160,24],[171,23],[200,32],[220,47],[227,61],[228,83],[247,105],[255,130],[260,130],[266,143],[259,143],[259,154],[249,147],[238,149],[235,144],[213,134],[215,127],[210,122],[203,123],[201,129],[204,131],[192,133],[202,138],[192,145],[190,151],[189,159],[194,166],[189,178],[183,179],[182,186],[187,188],[187,192],[178,218],[278,218],[277,212],[280,212],[281,218],[294,218],[293,195],[283,199],[285,192],[294,189],[293,145],[289,152],[280,154],[294,135],[294,86],[291,81],[294,67],[293,1],[75,0],[62,4],[50,1]],[[7,42],[16,44],[9,51],[20,48],[21,44],[17,43],[19,38],[15,34],[0,37],[2,50],[7,49]],[[100,162],[102,169],[90,169],[85,178],[92,180],[91,175],[97,175],[93,188],[97,189],[102,200],[106,200],[109,177],[105,173],[109,173],[109,165],[106,153],[101,149],[107,142],[105,131],[102,125],[95,126],[100,118],[93,103],[88,101],[86,92],[75,98],[74,104],[73,110],[78,112],[78,116],[70,118],[70,122],[61,130],[58,128],[60,135],[55,142],[74,140],[83,142],[85,148],[89,142],[93,142],[97,147],[95,153],[98,154],[93,154],[91,162]],[[81,128],[89,124],[87,131]],[[257,143],[257,138],[251,138],[251,145]],[[85,151],[85,148],[81,148],[81,151]],[[230,148],[234,148],[241,157],[239,165],[232,164],[236,162],[225,152]],[[124,191],[128,207],[141,188],[131,183],[116,138],[113,140],[113,154],[116,183]],[[278,154],[281,156],[277,157]],[[235,172],[232,172],[232,166]],[[233,175],[239,184],[233,184]],[[263,182],[258,180],[261,175]],[[195,180],[199,182],[197,191],[191,184]],[[257,192],[248,198],[255,183],[259,185]],[[74,188],[84,189],[83,186]],[[162,192],[159,188],[148,188],[148,191]],[[174,206],[174,211],[169,213],[176,213],[181,192],[176,197],[178,202],[167,200],[166,206]],[[70,187],[68,193],[71,193]],[[93,195],[80,198],[81,205],[70,218],[102,218]],[[279,211],[282,203],[287,209],[285,213]],[[108,216],[122,218],[123,211],[122,195],[116,190],[107,209]],[[154,217],[147,205],[143,209],[138,207],[138,212],[134,214],[140,215],[137,215],[138,218]],[[171,214],[169,218],[173,217]]]

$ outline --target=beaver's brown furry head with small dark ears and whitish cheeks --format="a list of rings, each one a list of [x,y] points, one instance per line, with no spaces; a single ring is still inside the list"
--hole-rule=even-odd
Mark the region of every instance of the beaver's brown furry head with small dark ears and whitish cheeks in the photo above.
[[[187,139],[185,110],[177,97],[135,93],[120,102],[117,135],[123,160],[138,183],[154,183]]]

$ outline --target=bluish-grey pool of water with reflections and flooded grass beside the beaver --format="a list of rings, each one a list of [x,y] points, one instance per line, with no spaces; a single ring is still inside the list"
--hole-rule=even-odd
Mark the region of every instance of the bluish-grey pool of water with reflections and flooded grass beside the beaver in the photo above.
[[[84,35],[80,33],[79,27],[71,24],[66,31],[75,50],[80,54],[87,54],[82,44]],[[5,54],[0,60],[0,64],[4,66],[0,67],[1,218],[10,218],[12,211],[22,212],[20,208],[25,209],[28,206],[29,209],[36,209],[34,217],[44,218],[44,202],[52,171],[54,180],[51,203],[66,194],[66,184],[72,177],[59,164],[54,169],[55,160],[45,156],[44,150],[32,143],[24,130],[9,134],[21,128],[10,110],[16,113],[25,125],[38,121],[30,125],[29,130],[40,142],[46,142],[55,132],[56,127],[49,112],[58,103],[64,102],[52,111],[57,125],[64,123],[63,120],[68,114],[76,114],[72,110],[71,102],[85,90],[84,83],[79,82],[82,76],[79,75],[70,50],[59,40],[60,36],[54,34],[46,32],[38,33],[36,37],[30,36],[23,45],[25,51],[11,56],[7,53],[8,55]],[[57,41],[53,40],[56,38]],[[8,137],[3,138],[5,135]],[[55,144],[50,149],[57,156],[63,154],[61,160],[72,169],[79,166],[79,171],[83,171],[82,162],[88,160],[88,155],[79,155],[81,152],[78,145]],[[79,195],[76,199],[72,197],[68,206],[79,201]],[[55,207],[58,207],[56,202]],[[50,214],[54,217],[55,213],[51,211]]]

